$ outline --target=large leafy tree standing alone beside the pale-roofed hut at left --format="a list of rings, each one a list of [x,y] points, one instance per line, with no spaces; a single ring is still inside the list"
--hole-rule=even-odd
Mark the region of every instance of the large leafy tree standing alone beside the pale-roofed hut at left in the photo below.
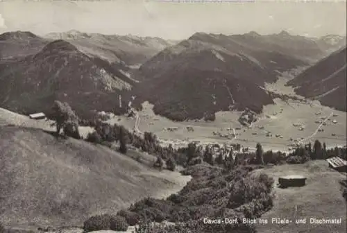
[[[53,119],[56,121],[57,134],[63,129],[65,135],[78,139],[81,138],[78,132],[78,116],[71,109],[69,103],[54,101]]]

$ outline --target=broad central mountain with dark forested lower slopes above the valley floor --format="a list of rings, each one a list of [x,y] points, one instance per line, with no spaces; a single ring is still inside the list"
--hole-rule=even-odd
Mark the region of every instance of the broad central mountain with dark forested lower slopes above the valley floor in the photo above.
[[[300,56],[283,52],[288,48],[270,50],[263,42],[254,33],[196,33],[142,64],[137,101],[150,101],[156,113],[171,119],[201,118],[230,108],[260,112],[273,103],[262,85],[274,82],[278,72],[307,65]]]

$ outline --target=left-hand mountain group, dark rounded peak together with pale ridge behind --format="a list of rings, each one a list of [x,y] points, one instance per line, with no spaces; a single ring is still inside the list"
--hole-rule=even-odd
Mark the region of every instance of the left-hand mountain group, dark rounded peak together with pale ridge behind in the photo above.
[[[47,112],[52,101],[60,99],[69,102],[78,114],[90,110],[119,112],[115,107],[119,105],[119,94],[128,92],[136,82],[130,78],[129,66],[169,44],[151,37],[76,31],[47,37],[22,31],[3,33],[1,106],[24,114]]]

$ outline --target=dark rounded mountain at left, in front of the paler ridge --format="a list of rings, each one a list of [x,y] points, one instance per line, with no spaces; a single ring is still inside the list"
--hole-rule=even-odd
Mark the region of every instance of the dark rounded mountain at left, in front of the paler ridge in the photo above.
[[[0,62],[0,105],[28,113],[49,110],[60,99],[80,114],[114,110],[117,94],[134,83],[120,66],[90,58],[69,42],[56,40],[34,55]]]

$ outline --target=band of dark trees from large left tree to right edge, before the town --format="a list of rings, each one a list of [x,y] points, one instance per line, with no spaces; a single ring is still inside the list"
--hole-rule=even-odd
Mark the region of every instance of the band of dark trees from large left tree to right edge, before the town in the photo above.
[[[57,133],[62,129],[65,135],[81,139],[78,132],[78,122],[81,119],[76,116],[68,103],[55,101],[53,119],[56,121]],[[157,159],[153,166],[156,168],[162,169],[165,163],[167,169],[171,171],[175,170],[176,164],[187,167],[201,162],[232,169],[242,164],[282,164],[283,162],[301,164],[310,159],[327,159],[335,156],[346,159],[346,148],[327,149],[325,142],[322,144],[319,140],[314,141],[313,146],[311,142],[299,146],[288,155],[280,151],[267,150],[264,152],[260,143],[256,144],[255,153],[248,152],[248,148],[242,148],[241,151],[240,144],[234,144],[231,148],[219,148],[219,152],[215,153],[213,147],[219,147],[219,145],[208,145],[203,148],[203,146],[191,142],[185,147],[173,148],[171,144],[161,146],[157,136],[152,132],[144,132],[143,137],[141,137],[130,132],[124,126],[117,123],[112,126],[110,123],[103,122],[102,119],[94,119],[92,125],[94,132],[87,135],[87,141],[106,145],[117,142],[119,144],[118,150],[123,154],[128,152],[128,145],[130,144],[146,153],[155,155]]]

